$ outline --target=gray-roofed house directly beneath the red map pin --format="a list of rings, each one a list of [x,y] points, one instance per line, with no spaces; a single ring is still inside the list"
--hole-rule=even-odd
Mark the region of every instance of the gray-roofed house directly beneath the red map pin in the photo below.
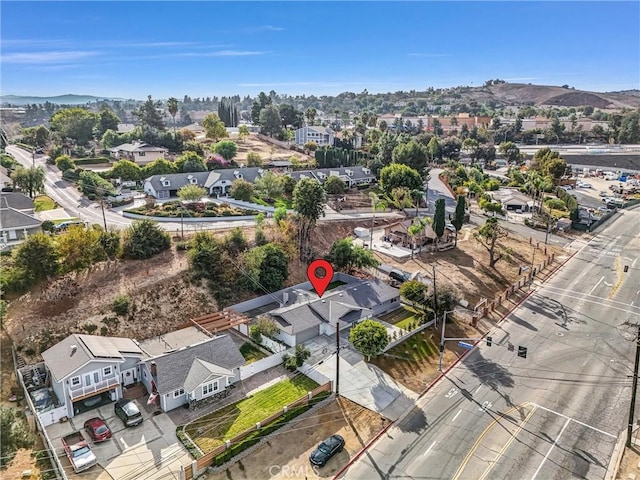
[[[276,338],[293,347],[317,335],[333,335],[360,320],[398,308],[400,293],[382,280],[356,280],[319,298],[304,290],[283,293],[281,306],[265,315],[275,320]]]

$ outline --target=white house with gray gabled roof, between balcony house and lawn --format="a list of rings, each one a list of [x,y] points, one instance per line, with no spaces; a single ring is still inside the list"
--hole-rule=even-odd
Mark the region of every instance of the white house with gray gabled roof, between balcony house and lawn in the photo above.
[[[141,363],[142,383],[150,401],[167,412],[224,392],[240,380],[245,362],[233,339],[222,335],[146,358]]]

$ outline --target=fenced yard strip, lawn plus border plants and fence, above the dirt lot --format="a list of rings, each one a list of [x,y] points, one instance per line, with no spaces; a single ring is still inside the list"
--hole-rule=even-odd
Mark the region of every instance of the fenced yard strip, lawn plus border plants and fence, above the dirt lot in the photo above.
[[[222,465],[330,394],[330,383],[319,386],[299,374],[178,427],[177,435],[194,456],[193,445],[204,453],[198,469]]]

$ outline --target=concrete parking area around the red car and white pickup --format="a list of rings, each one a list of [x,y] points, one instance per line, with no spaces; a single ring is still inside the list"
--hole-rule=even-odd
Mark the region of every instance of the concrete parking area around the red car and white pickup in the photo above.
[[[91,480],[133,480],[179,478],[181,465],[190,463],[190,456],[176,437],[176,425],[165,413],[153,415],[138,403],[144,421],[125,428],[116,417],[113,404],[100,407],[46,428],[56,452],[69,478]],[[111,430],[112,438],[94,444],[82,431],[84,422],[92,417],[102,418]],[[98,459],[98,465],[73,473],[71,464],[62,449],[62,437],[74,431],[82,431]]]

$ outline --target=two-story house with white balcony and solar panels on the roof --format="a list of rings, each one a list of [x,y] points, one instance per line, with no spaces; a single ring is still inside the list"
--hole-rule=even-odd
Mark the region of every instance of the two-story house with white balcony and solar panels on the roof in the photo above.
[[[123,387],[140,380],[143,356],[130,338],[80,334],[69,335],[42,352],[51,388],[66,407],[67,417],[94,397],[98,403],[122,398]]]

